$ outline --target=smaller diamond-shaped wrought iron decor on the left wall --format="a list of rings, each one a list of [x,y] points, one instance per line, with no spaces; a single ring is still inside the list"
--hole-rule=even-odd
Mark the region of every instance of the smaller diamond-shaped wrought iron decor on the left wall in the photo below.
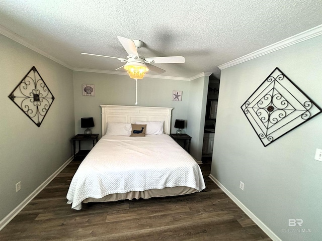
[[[35,66],[29,70],[8,97],[37,127],[40,127],[55,99]]]

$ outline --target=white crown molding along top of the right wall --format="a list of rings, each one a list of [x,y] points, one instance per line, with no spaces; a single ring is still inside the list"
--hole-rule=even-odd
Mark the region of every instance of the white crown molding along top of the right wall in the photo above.
[[[234,60],[229,61],[229,62],[222,64],[222,65],[219,65],[218,68],[225,69],[225,68],[234,66],[236,64],[240,64],[240,63],[246,62],[248,60],[255,59],[255,58],[260,57],[262,55],[269,54],[269,53],[274,52],[276,50],[286,48],[286,47],[291,46],[293,44],[297,44],[299,42],[317,37],[321,34],[322,34],[322,25],[318,25],[312,29],[306,30],[302,33],[296,34],[292,37],[289,37],[287,39],[279,41],[275,44],[269,45],[265,48],[262,48],[262,49],[255,51],[255,52],[252,52],[250,54],[244,55],[243,57],[234,59]]]

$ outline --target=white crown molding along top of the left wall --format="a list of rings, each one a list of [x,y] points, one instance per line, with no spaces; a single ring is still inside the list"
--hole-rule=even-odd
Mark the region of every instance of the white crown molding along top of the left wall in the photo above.
[[[42,51],[41,49],[38,49],[37,47],[33,46],[32,44],[28,43],[26,40],[24,40],[21,36],[19,36],[18,34],[10,31],[9,29],[7,29],[6,27],[0,25],[0,34],[12,39],[13,41],[37,52],[38,54],[41,54],[45,57],[47,57],[48,59],[51,59],[52,61],[55,61],[56,63],[68,68],[72,70],[72,67],[62,61],[60,61],[59,59],[56,59],[54,57],[52,57],[51,55],[47,54],[46,52]]]

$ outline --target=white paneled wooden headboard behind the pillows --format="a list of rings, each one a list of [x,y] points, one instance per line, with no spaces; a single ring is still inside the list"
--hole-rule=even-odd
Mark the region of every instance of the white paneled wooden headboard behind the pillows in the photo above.
[[[102,108],[102,136],[106,132],[108,122],[135,123],[160,122],[164,121],[164,133],[170,135],[171,130],[171,110],[170,107],[146,107],[146,106],[126,106],[126,105],[105,105]]]

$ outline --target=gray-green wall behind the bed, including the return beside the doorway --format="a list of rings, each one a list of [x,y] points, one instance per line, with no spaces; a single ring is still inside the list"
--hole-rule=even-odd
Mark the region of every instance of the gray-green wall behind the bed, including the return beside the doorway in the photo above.
[[[171,133],[176,133],[175,119],[185,119],[183,132],[192,137],[191,155],[201,160],[203,125],[208,76],[192,81],[155,79],[138,80],[138,106],[173,107]],[[81,118],[93,116],[93,133],[101,134],[101,104],[135,105],[135,80],[127,75],[74,71],[75,133],[83,133]],[[83,96],[82,84],[94,84],[95,96]],[[182,101],[172,101],[173,90],[182,91]],[[204,105],[204,108],[203,106]],[[84,143],[84,145],[89,145]],[[83,147],[82,147],[83,148]],[[199,150],[200,149],[200,150]]]

